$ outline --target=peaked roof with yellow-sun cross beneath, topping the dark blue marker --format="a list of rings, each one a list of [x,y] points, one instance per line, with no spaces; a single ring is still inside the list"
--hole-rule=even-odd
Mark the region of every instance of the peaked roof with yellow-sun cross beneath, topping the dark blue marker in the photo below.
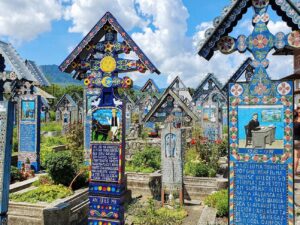
[[[118,40],[118,34],[124,41]],[[120,54],[135,52],[138,59],[124,59]],[[75,78],[85,79],[89,88],[132,86],[128,77],[118,78],[119,73],[149,70],[160,72],[130,38],[110,12],[107,12],[81,43],[60,65],[63,72],[76,71]]]

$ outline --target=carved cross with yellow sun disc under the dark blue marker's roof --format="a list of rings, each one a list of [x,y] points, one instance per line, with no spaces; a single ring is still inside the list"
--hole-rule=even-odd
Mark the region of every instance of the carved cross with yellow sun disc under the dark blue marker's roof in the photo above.
[[[84,83],[89,88],[130,88],[132,80],[129,77],[119,78],[119,73],[139,71],[144,73],[147,68],[140,60],[130,60],[119,58],[119,54],[129,54],[130,46],[125,42],[118,42],[118,35],[115,29],[110,25],[104,26],[105,38],[95,45],[88,45],[87,49],[91,51],[92,56],[89,60],[82,60],[81,70],[90,71],[90,75]]]

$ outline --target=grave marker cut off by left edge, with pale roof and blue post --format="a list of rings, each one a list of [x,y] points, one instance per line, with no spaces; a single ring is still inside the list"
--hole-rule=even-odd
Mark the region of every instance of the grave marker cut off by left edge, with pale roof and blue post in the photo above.
[[[5,71],[9,65],[11,72]],[[10,164],[14,125],[14,102],[37,82],[9,43],[0,41],[0,224],[7,224]],[[5,98],[4,98],[5,95]]]

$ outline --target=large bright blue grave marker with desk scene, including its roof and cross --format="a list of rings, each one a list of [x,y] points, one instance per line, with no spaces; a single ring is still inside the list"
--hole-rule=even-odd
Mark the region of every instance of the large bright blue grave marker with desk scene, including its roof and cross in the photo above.
[[[273,35],[268,8],[293,29]],[[249,7],[254,29],[246,37],[227,36]],[[300,48],[299,8],[287,0],[232,1],[206,32],[199,55],[210,59],[218,49],[249,51],[254,74],[249,82],[230,83],[229,157],[230,224],[294,224],[293,83],[272,81],[267,56],[273,49]]]

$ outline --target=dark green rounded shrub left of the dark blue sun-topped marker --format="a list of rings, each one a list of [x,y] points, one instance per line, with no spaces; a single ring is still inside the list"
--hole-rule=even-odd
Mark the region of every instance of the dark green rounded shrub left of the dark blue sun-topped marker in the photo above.
[[[72,156],[66,151],[47,155],[45,166],[55,184],[68,186],[76,175]]]

